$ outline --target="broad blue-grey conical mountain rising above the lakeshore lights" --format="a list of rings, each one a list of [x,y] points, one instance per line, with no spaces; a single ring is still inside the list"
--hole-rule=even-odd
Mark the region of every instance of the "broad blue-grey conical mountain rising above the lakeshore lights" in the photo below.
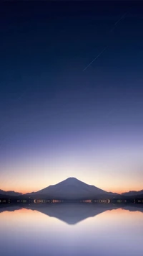
[[[55,199],[89,199],[102,196],[113,196],[114,193],[107,192],[101,188],[88,185],[77,178],[67,178],[60,183],[41,189],[35,193],[29,193],[29,196],[42,197],[42,198],[55,198]]]

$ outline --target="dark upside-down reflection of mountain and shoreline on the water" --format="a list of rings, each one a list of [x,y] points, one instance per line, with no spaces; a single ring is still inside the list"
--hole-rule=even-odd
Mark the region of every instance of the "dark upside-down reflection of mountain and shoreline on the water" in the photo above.
[[[114,204],[31,204],[21,206],[1,206],[0,213],[4,211],[19,211],[19,210],[39,211],[50,217],[54,217],[66,224],[77,224],[89,217],[94,217],[105,211],[124,209],[127,211],[140,211],[143,213],[143,205],[114,205]]]

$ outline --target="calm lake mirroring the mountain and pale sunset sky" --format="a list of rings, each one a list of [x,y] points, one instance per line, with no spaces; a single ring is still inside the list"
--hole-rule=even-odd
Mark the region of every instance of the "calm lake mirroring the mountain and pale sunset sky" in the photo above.
[[[0,206],[1,256],[143,255],[143,206]]]

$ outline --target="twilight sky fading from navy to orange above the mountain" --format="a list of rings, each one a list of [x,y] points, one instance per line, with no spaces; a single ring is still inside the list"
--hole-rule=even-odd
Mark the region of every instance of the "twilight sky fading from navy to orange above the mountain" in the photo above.
[[[143,189],[141,1],[0,8],[0,189]]]

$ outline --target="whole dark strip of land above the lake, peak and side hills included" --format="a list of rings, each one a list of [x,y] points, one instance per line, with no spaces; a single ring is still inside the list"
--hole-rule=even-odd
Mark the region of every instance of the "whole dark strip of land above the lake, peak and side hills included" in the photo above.
[[[64,200],[64,201],[80,201],[80,200],[124,200],[133,201],[139,200],[143,202],[143,191],[129,191],[128,193],[112,193],[97,188],[96,186],[88,185],[77,178],[67,178],[53,186],[48,186],[40,191],[33,193],[26,193],[21,195],[14,191],[0,191],[0,200],[2,202],[21,201],[21,200],[34,201],[42,200]],[[0,201],[0,202],[1,202]]]

